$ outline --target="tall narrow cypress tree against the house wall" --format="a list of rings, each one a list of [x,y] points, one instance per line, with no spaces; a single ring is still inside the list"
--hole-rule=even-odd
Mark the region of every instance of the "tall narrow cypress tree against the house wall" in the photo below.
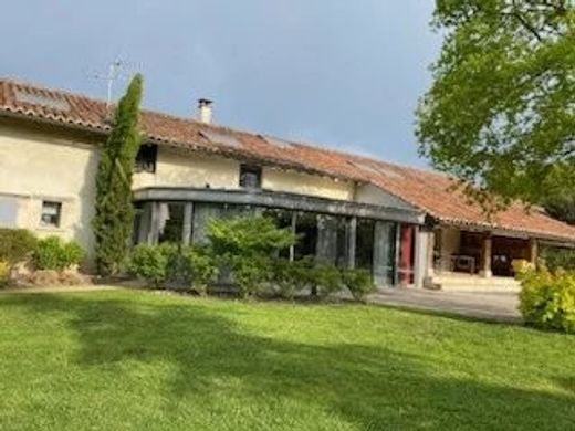
[[[134,76],[114,115],[96,176],[93,220],[98,274],[121,271],[128,253],[134,223],[132,175],[140,145],[138,129],[143,77]]]

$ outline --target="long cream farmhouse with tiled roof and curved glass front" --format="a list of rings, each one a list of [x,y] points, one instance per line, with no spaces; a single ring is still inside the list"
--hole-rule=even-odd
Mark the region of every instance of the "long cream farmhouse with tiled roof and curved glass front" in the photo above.
[[[194,116],[194,118],[191,118]],[[92,255],[102,101],[0,80],[0,227],[79,241]],[[378,285],[511,283],[511,261],[571,246],[575,228],[514,204],[488,220],[442,174],[143,112],[134,243],[206,241],[215,217],[264,213],[301,235],[289,259],[366,267]]]

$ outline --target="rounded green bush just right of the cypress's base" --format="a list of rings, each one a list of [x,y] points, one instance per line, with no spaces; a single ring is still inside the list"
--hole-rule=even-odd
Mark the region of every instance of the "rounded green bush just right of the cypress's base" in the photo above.
[[[130,274],[153,283],[156,287],[168,280],[170,263],[177,252],[172,244],[139,244],[132,250],[128,271]]]

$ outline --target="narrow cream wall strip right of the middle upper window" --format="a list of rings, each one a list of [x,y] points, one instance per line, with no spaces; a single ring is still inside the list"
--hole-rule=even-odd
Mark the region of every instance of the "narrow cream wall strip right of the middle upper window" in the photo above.
[[[354,196],[354,185],[349,181],[271,168],[262,171],[262,188],[339,200],[352,200]]]

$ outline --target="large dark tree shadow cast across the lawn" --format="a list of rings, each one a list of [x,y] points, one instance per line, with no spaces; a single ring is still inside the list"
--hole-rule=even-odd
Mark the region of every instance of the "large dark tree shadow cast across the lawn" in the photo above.
[[[221,391],[233,379],[262,402],[291,398],[363,429],[568,429],[575,416],[575,397],[448,379],[425,354],[260,337],[192,302],[19,295],[4,303],[70,314],[81,365],[174,364],[168,399]],[[572,379],[563,381],[572,387]]]

